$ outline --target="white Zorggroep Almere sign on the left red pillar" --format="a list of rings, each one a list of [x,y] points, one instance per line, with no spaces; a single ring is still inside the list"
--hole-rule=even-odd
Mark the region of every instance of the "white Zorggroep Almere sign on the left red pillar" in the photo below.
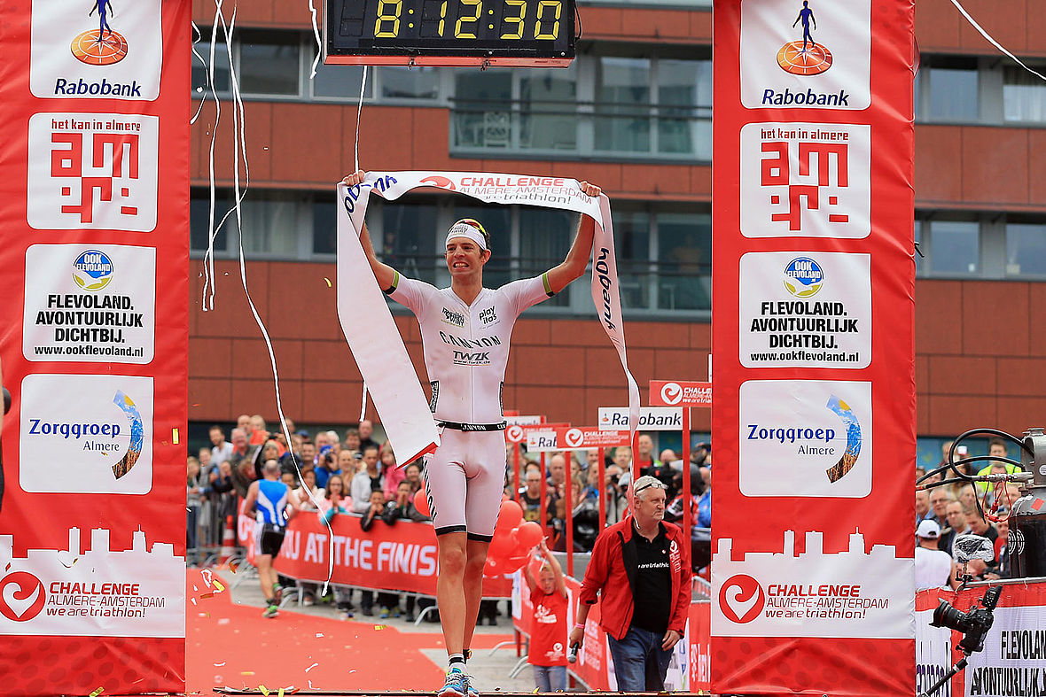
[[[19,481],[23,489],[150,491],[152,378],[35,374],[22,381],[22,395]]]

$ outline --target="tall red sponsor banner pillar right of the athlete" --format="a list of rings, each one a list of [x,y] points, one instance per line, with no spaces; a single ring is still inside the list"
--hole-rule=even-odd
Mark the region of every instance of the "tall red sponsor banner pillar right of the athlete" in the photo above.
[[[711,691],[913,695],[914,4],[713,9]]]

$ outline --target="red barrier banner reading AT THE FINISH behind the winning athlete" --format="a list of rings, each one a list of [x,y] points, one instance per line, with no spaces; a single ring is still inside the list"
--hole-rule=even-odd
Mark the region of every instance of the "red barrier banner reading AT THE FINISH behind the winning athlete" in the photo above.
[[[432,524],[399,520],[390,526],[374,520],[370,530],[364,531],[360,528],[362,519],[357,515],[336,515],[327,530],[318,514],[299,513],[288,524],[283,547],[273,566],[283,576],[323,583],[333,555],[331,583],[435,597],[439,556]],[[252,529],[248,544],[253,542]],[[483,579],[484,598],[510,596],[508,577]]]

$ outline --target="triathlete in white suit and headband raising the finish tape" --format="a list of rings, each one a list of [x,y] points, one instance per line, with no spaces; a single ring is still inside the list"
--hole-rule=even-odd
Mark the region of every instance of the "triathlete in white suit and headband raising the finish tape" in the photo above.
[[[356,186],[364,178],[362,170],[357,171],[344,183]],[[588,182],[581,183],[581,190],[589,196],[600,193]],[[483,287],[491,235],[472,218],[458,220],[447,233],[449,288],[402,277],[374,256],[366,226],[360,235],[379,285],[406,305],[420,325],[432,385],[430,405],[442,432],[441,444],[425,467],[439,549],[436,600],[448,653],[447,681],[437,693],[442,697],[476,693],[464,673],[464,659],[476,628],[486,548],[504,487],[501,390],[513,325],[527,307],[581,278],[592,254],[594,232],[594,220],[583,215],[563,263],[497,291]]]

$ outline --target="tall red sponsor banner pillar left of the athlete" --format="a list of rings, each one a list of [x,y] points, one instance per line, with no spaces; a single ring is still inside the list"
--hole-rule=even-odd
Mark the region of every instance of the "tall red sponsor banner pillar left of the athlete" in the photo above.
[[[4,695],[185,687],[189,10],[4,3]]]

